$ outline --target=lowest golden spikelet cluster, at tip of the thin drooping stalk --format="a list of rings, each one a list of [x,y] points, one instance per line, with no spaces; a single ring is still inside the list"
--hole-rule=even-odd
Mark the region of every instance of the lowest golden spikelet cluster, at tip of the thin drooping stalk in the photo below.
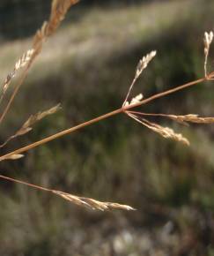
[[[133,207],[129,207],[127,205],[121,205],[118,203],[100,202],[98,200],[93,200],[89,198],[77,197],[75,195],[72,195],[66,192],[60,192],[60,191],[54,191],[54,190],[52,192],[60,196],[64,200],[68,200],[76,204],[77,206],[88,207],[93,210],[100,210],[100,211],[106,211],[111,209],[121,209],[126,211],[135,210]]]

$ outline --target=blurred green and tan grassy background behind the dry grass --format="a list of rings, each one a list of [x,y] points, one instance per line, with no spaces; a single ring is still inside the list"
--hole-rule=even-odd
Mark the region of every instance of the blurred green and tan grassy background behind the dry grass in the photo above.
[[[1,0],[2,81],[31,48],[31,37],[48,19],[50,4]],[[203,34],[213,30],[213,13],[211,0],[83,0],[72,7],[33,65],[2,124],[0,141],[31,114],[58,102],[63,109],[13,140],[1,154],[120,107],[138,60],[152,49],[158,56],[133,96],[148,97],[203,77]],[[210,71],[213,59],[212,47]],[[203,83],[141,109],[212,117],[213,100],[212,83]],[[85,210],[1,180],[0,254],[213,256],[213,125],[156,121],[182,132],[190,147],[119,115],[29,151],[21,160],[2,162],[0,172],[9,177],[118,201],[137,211]]]

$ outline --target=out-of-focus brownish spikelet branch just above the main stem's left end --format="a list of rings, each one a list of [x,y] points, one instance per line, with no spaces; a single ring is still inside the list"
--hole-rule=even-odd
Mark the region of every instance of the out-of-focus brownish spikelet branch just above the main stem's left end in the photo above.
[[[61,105],[57,104],[55,107],[45,110],[43,112],[38,112],[35,115],[32,115],[31,117],[29,117],[26,122],[21,126],[21,128],[18,130],[18,132],[16,132],[14,135],[12,135],[11,137],[9,137],[8,139],[6,139],[4,141],[4,143],[2,145],[0,145],[0,147],[4,147],[5,145],[7,145],[8,142],[11,141],[11,139],[15,139],[18,136],[22,136],[25,135],[27,132],[30,132],[33,130],[33,124],[39,122],[42,118],[47,117],[49,115],[55,114],[55,112],[57,110],[61,109]]]

